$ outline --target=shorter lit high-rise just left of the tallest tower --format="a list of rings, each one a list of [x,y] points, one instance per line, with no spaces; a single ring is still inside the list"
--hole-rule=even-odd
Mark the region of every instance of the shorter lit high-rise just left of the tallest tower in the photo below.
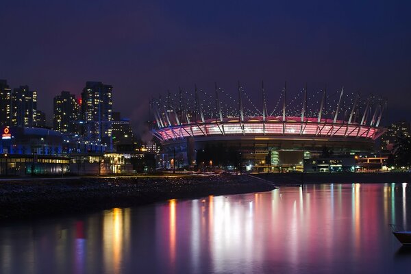
[[[53,100],[53,129],[79,134],[79,103],[75,95],[62,91]]]

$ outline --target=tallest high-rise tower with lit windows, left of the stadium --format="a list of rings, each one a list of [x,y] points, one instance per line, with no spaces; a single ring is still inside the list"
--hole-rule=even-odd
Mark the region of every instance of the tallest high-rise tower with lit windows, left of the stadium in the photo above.
[[[112,90],[101,82],[86,82],[82,92],[83,135],[111,147]]]

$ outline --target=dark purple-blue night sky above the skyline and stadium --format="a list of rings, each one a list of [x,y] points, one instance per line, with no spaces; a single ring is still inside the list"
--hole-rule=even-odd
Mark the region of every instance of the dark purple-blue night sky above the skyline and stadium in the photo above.
[[[86,81],[114,86],[134,123],[151,97],[240,80],[261,105],[287,81],[388,97],[388,120],[411,120],[411,1],[1,1],[0,79],[52,98]],[[361,3],[360,3],[361,2]],[[50,122],[49,122],[50,123]]]

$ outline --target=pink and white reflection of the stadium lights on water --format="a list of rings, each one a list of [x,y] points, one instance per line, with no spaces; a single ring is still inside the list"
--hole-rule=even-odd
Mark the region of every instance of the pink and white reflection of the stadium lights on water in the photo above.
[[[384,233],[379,215],[388,214],[388,203],[376,191],[386,197],[380,186],[333,184],[177,201],[177,212],[191,212],[184,220],[171,217],[190,231],[189,238],[185,229],[175,232],[176,263],[181,262],[179,250],[186,249],[186,241],[190,264],[197,270],[205,258],[215,272],[232,267],[252,272],[253,265],[266,261],[288,264],[288,273],[319,258],[329,269],[345,260],[356,262],[364,252],[378,248],[379,234]],[[340,253],[345,256],[339,258]]]

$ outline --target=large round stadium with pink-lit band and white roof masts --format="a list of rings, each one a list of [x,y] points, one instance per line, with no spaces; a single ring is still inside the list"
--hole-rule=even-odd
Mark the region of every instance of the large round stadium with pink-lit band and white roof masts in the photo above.
[[[303,88],[287,100],[284,86],[271,112],[264,87],[260,108],[240,84],[236,99],[217,87],[212,93],[195,87],[151,101],[164,168],[302,171],[316,159],[333,158],[343,171],[353,168],[345,159],[371,153],[385,132],[379,124],[386,101],[343,89],[308,97]]]

